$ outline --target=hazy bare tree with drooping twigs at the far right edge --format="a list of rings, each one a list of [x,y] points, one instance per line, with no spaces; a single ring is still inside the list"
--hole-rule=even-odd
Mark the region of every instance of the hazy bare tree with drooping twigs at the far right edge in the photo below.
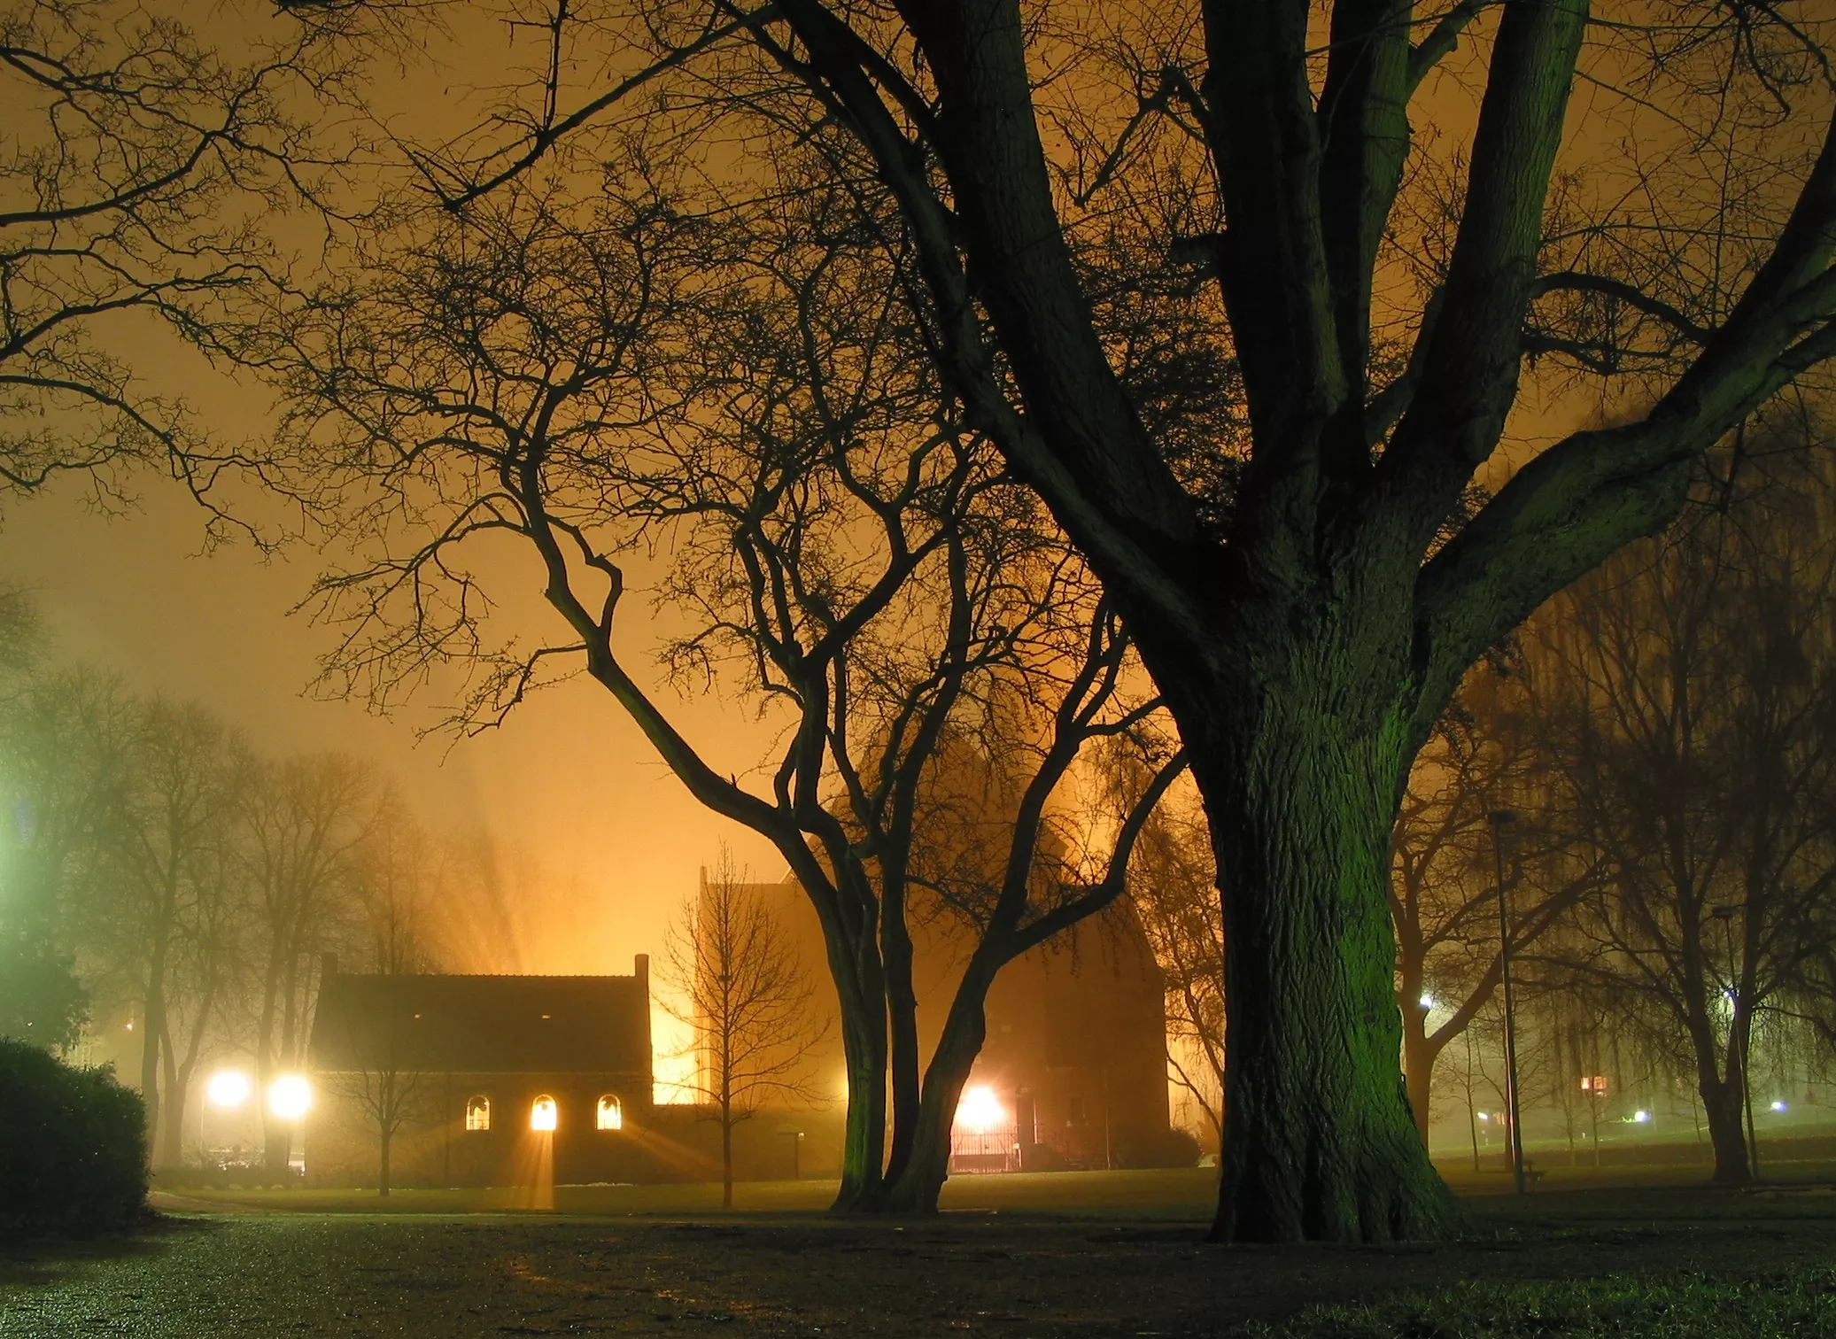
[[[1832,494],[1796,435],[1711,457],[1700,505],[1529,643],[1570,841],[1606,871],[1564,966],[1687,1036],[1724,1183],[1752,1177],[1755,1018],[1823,951],[1836,896]]]

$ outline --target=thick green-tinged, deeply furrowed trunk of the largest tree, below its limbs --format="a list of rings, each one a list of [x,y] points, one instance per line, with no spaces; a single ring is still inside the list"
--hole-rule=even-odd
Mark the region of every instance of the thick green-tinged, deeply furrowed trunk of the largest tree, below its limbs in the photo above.
[[[1364,648],[1271,641],[1248,663],[1272,680],[1170,689],[1157,669],[1204,797],[1228,926],[1214,1236],[1447,1234],[1463,1214],[1397,1065],[1390,828],[1412,759],[1390,702],[1405,694]]]

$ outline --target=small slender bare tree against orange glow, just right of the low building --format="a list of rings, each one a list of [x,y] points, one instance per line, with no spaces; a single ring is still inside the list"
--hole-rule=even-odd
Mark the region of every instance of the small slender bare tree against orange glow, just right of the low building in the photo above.
[[[778,1098],[808,1100],[813,983],[797,946],[722,852],[663,953],[666,1008],[694,1029],[692,1089],[720,1120],[720,1207],[733,1209],[733,1128]]]

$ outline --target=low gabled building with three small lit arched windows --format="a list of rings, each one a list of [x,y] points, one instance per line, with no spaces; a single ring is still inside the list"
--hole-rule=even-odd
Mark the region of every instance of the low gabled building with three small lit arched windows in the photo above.
[[[308,1045],[308,1185],[531,1187],[666,1176],[650,961],[628,977],[353,975]]]

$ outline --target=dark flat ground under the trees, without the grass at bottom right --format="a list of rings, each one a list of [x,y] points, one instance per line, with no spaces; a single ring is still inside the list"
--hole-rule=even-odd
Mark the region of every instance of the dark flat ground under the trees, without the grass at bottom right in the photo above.
[[[1230,1333],[1469,1280],[1836,1264],[1836,1190],[1812,1181],[1748,1194],[1559,1185],[1518,1201],[1496,1194],[1496,1177],[1467,1179],[1463,1242],[1226,1251],[1203,1240],[1212,1177],[953,1181],[947,1212],[927,1221],[828,1218],[819,1183],[742,1187],[747,1212],[731,1216],[707,1207],[709,1187],[564,1187],[553,1214],[465,1192],[397,1196],[389,1212],[354,1194],[200,1192],[167,1199],[134,1240],[0,1249],[0,1337],[1133,1339]]]

